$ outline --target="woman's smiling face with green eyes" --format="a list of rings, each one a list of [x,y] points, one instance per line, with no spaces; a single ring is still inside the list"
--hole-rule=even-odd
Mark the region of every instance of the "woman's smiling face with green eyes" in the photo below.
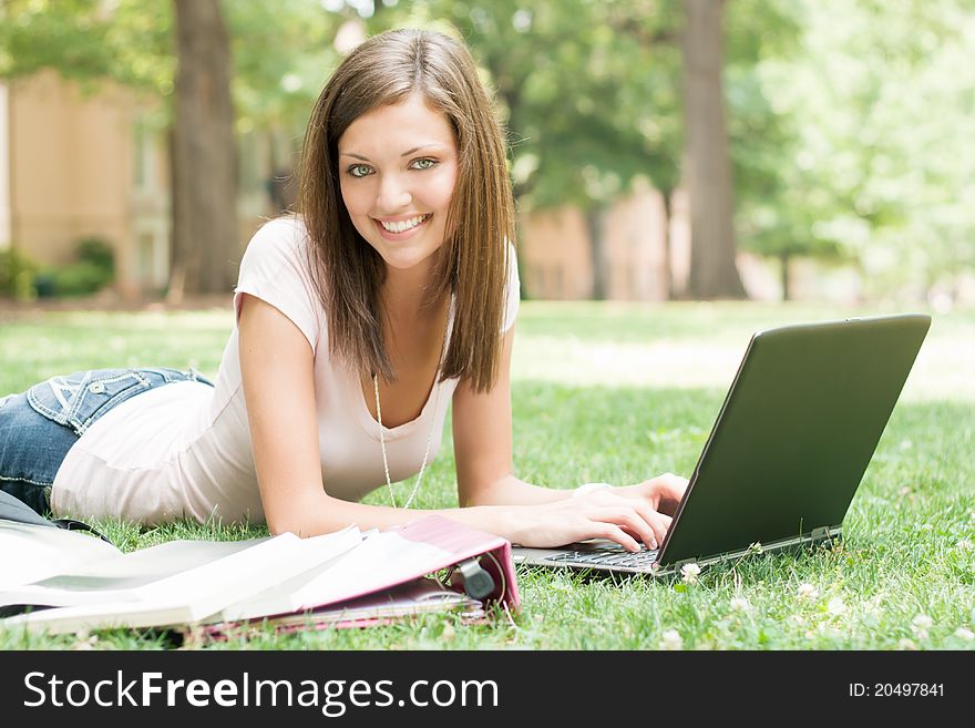
[[[338,152],[342,199],[359,234],[390,268],[432,263],[458,173],[447,116],[411,94],[349,124]]]

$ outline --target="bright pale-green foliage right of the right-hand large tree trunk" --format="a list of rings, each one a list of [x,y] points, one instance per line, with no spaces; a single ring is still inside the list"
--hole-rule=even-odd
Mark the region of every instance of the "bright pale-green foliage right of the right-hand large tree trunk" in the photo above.
[[[868,294],[952,285],[975,266],[975,3],[797,6],[798,48],[757,69],[791,137],[763,214]]]

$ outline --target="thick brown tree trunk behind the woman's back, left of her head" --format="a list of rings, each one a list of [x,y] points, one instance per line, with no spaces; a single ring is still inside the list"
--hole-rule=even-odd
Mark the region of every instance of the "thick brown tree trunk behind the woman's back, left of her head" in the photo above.
[[[230,47],[218,0],[175,0],[170,299],[229,293],[240,257]]]

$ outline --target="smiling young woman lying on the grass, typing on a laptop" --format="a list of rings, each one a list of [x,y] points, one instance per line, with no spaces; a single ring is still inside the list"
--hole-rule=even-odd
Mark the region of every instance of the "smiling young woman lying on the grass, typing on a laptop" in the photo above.
[[[452,403],[462,507],[437,513],[530,546],[655,547],[682,478],[573,491],[512,472],[513,239],[502,135],[466,49],[374,37],[312,111],[299,212],[247,247],[214,384],[98,370],[9,396],[0,486],[58,516],[383,529],[419,515]],[[413,474],[397,502],[391,483]],[[389,506],[359,503],[376,488]]]

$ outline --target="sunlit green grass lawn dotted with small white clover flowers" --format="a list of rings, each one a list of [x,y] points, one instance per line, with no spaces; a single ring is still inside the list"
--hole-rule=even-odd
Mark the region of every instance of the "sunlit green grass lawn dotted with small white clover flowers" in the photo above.
[[[903,309],[899,309],[903,310]],[[552,488],[689,474],[758,328],[850,315],[812,306],[526,303],[513,362],[515,468]],[[195,366],[214,375],[233,325],[199,312],[0,312],[0,393],[84,368]],[[519,568],[522,609],[461,625],[428,616],[363,630],[274,636],[215,649],[973,649],[975,314],[936,316],[902,400],[831,548],[763,554],[681,580],[584,578]],[[450,430],[418,501],[455,505]],[[406,492],[408,484],[400,484]],[[370,496],[383,502],[383,491]],[[239,539],[259,527],[101,523],[124,550]],[[968,632],[965,632],[968,630]],[[0,648],[172,647],[166,634],[39,637]],[[203,645],[189,638],[184,647]]]

